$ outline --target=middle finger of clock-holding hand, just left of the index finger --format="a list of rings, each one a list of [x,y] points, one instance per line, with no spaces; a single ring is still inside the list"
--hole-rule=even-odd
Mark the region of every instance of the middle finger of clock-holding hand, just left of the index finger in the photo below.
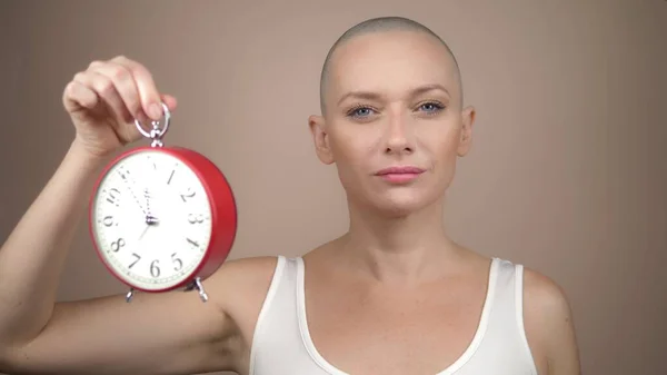
[[[125,103],[130,116],[137,119],[142,117],[143,109],[141,108],[139,89],[137,88],[132,73],[125,66],[113,62],[93,61],[90,63],[88,71],[102,75],[113,82],[116,91],[120,96],[120,99]]]

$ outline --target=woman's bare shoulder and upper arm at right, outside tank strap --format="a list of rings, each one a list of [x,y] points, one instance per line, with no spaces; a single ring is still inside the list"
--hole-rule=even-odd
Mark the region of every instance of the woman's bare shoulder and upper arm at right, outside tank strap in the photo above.
[[[567,294],[554,279],[527,267],[524,268],[524,322],[540,374],[580,374]]]

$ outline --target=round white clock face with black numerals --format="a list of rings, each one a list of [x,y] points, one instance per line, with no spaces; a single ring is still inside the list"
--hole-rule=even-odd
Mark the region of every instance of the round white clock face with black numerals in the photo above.
[[[112,166],[92,201],[98,249],[116,274],[138,288],[160,290],[191,276],[211,236],[211,208],[197,175],[156,150]]]

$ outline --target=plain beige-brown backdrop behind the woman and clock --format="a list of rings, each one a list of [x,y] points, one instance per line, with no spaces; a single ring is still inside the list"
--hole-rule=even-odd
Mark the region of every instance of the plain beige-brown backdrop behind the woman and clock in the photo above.
[[[0,239],[73,136],[62,88],[120,53],[179,98],[167,141],[231,180],[232,257],[297,255],[337,236],[342,190],[307,130],[320,66],[354,23],[405,16],[451,45],[478,109],[451,235],[563,285],[585,374],[667,374],[667,1],[280,3],[0,1]],[[60,298],[122,290],[82,225]]]

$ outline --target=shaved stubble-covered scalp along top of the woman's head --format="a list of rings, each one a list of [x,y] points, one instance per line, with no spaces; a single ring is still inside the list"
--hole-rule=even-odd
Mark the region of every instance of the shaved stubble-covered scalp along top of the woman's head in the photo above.
[[[334,57],[335,52],[341,46],[344,46],[346,42],[348,42],[357,37],[368,34],[368,33],[388,32],[388,31],[421,32],[421,33],[427,34],[427,36],[434,38],[435,40],[437,40],[444,47],[446,53],[451,58],[451,60],[454,62],[455,71],[452,73],[456,76],[456,79],[458,80],[459,95],[461,96],[461,102],[462,102],[462,86],[460,83],[460,71],[459,71],[458,62],[456,61],[456,57],[454,56],[454,52],[451,51],[449,46],[447,46],[447,43],[440,37],[438,37],[438,34],[436,34],[429,28],[427,28],[426,26],[424,26],[417,21],[414,21],[414,20],[410,20],[407,18],[402,18],[402,17],[381,17],[381,18],[369,19],[369,20],[366,20],[364,22],[360,22],[360,23],[351,27],[346,32],[344,32],[342,36],[340,36],[340,38],[338,38],[338,40],[329,49],[329,52],[327,53],[327,58],[325,59],[325,63],[322,66],[322,71],[321,71],[321,76],[320,76],[320,109],[321,109],[322,115],[326,114],[326,100],[325,99],[326,99],[328,80],[329,80],[329,76],[330,76],[330,71],[331,71],[332,57]],[[442,67],[442,69],[447,69],[447,68]]]

